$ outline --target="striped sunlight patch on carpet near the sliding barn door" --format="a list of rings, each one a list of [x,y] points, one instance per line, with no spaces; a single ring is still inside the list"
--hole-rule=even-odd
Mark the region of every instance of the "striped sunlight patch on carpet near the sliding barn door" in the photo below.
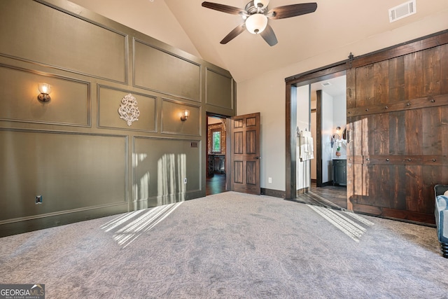
[[[349,236],[355,242],[359,242],[359,238],[367,230],[363,225],[372,226],[374,224],[351,212],[316,207],[311,204],[307,204],[307,206],[316,211],[317,214],[321,215],[336,228],[344,232],[345,235]],[[353,218],[353,220],[350,217]]]

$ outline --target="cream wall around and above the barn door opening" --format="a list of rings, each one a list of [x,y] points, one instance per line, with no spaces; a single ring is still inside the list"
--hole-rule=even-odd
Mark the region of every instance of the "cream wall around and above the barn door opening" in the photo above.
[[[369,36],[341,48],[328,49],[321,55],[302,57],[301,62],[296,64],[279,66],[279,69],[275,71],[239,82],[237,84],[237,113],[245,114],[258,110],[262,116],[261,187],[286,190],[285,78],[346,60],[349,53],[355,56],[363,55],[440,32],[447,29],[447,20],[448,11],[440,12],[431,18],[424,18],[388,32]],[[275,59],[275,57],[269,59]],[[268,176],[273,178],[272,184],[267,184]]]

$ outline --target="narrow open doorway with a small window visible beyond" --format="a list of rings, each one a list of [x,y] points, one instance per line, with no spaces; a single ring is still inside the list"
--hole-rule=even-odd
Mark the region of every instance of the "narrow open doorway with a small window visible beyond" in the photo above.
[[[206,195],[226,190],[225,116],[207,114],[207,182]]]

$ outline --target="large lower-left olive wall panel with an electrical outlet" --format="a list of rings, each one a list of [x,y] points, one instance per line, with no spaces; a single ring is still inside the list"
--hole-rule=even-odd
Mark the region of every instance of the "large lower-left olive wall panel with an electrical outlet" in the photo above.
[[[126,204],[128,139],[0,128],[0,224]]]

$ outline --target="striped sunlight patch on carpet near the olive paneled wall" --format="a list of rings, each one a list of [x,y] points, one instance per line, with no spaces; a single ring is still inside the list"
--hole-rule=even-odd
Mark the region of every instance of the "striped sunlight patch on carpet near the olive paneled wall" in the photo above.
[[[143,232],[151,230],[160,221],[167,218],[181,204],[182,202],[176,202],[151,209],[132,211],[105,223],[101,228],[105,232],[112,232],[113,239],[125,248]]]

